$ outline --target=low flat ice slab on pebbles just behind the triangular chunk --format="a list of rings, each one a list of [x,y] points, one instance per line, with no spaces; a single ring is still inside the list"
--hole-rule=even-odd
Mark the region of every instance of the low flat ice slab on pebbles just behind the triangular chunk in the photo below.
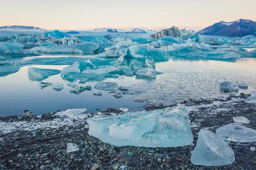
[[[216,133],[225,140],[233,142],[253,142],[256,141],[256,130],[244,127],[235,123],[230,123],[219,127]]]

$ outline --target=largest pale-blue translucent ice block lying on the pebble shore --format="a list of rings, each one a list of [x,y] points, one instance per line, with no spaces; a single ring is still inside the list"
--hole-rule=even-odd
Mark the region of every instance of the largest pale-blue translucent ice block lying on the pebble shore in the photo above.
[[[193,142],[185,108],[131,112],[87,119],[88,133],[116,146],[177,147]]]

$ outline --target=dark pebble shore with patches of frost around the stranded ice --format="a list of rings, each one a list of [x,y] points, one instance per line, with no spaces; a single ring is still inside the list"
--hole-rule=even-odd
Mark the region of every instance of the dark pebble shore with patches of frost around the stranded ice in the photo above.
[[[194,165],[190,161],[201,128],[212,132],[244,116],[244,125],[256,130],[256,105],[244,102],[249,95],[230,95],[217,99],[189,99],[182,102],[189,112],[194,142],[183,147],[116,147],[88,135],[86,119],[99,113],[82,113],[74,117],[52,115],[0,117],[0,170],[253,170],[256,169],[255,142],[230,142],[236,161],[218,167]],[[173,105],[145,106],[156,110]],[[103,115],[122,113],[101,111]],[[67,153],[67,143],[79,145],[79,150]]]

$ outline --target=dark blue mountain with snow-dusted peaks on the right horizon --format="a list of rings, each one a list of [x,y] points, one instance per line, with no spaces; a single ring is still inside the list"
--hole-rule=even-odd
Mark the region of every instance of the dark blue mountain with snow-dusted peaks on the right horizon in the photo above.
[[[230,23],[221,21],[198,31],[198,34],[222,37],[244,37],[246,35],[256,35],[256,22],[244,19]]]

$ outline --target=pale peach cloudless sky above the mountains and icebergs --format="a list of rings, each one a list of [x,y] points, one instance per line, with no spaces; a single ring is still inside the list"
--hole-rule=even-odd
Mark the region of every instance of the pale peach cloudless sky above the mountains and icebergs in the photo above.
[[[0,26],[45,29],[210,26],[256,21],[256,0],[1,0]]]

